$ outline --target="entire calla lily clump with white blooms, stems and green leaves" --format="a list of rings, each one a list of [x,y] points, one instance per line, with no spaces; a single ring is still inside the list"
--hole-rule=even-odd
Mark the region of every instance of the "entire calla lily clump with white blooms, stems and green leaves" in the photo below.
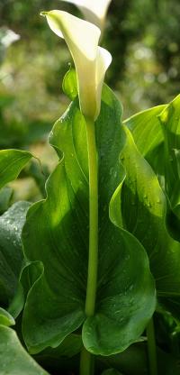
[[[100,26],[110,4],[69,2]],[[159,367],[177,375],[173,360],[170,372],[157,366],[152,315],[157,306],[179,318],[179,96],[121,123],[121,103],[103,85],[112,58],[98,46],[100,29],[66,12],[42,14],[76,71],[63,82],[72,102],[49,135],[59,161],[46,198],[0,216],[1,375],[48,375],[8,327],[17,316],[28,351],[52,373],[137,375],[138,349],[139,375]],[[31,157],[0,151],[0,188]]]

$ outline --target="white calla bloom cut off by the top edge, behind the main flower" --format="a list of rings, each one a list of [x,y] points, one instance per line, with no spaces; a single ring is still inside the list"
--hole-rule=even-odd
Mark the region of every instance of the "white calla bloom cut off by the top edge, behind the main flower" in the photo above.
[[[90,23],[94,23],[101,30],[103,30],[105,16],[107,14],[108,6],[112,0],[63,0],[67,3],[76,5],[82,14],[85,16],[85,20]]]

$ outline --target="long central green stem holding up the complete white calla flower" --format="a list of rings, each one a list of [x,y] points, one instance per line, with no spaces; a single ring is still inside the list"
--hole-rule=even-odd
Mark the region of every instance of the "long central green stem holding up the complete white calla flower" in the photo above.
[[[85,298],[85,316],[94,316],[98,267],[98,160],[94,122],[85,119],[89,160],[89,258]],[[81,352],[80,375],[93,375],[94,357],[85,348]]]

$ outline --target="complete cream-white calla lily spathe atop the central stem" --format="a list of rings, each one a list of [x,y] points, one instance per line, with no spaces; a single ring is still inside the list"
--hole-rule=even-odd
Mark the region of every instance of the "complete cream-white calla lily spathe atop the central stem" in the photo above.
[[[81,112],[95,120],[100,112],[103,78],[112,56],[98,47],[100,29],[67,12],[42,12],[50,29],[67,42],[74,59]]]

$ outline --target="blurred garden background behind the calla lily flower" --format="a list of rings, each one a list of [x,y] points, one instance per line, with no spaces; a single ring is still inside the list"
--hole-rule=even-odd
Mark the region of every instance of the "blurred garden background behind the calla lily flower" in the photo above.
[[[43,197],[43,181],[57,161],[47,138],[67,108],[61,84],[72,61],[40,17],[51,9],[80,15],[60,0],[0,0],[0,148],[30,149],[43,169],[34,161],[25,169],[21,184],[13,184],[14,200]],[[124,118],[180,92],[179,22],[179,0],[112,0],[103,35],[113,58],[106,82],[120,97]]]

